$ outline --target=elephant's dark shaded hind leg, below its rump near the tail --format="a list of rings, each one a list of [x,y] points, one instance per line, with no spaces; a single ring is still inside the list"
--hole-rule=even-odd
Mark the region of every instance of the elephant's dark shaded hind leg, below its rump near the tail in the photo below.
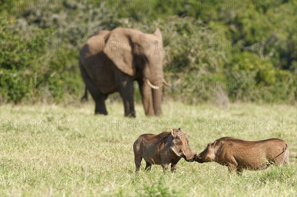
[[[99,91],[99,89],[95,86],[95,84],[92,82],[92,80],[89,78],[86,70],[83,68],[83,66],[80,66],[82,77],[85,81],[86,88],[90,91],[93,99],[95,100],[96,106],[95,106],[95,114],[104,114],[107,115],[107,110],[105,107],[105,99],[106,96],[102,95]]]

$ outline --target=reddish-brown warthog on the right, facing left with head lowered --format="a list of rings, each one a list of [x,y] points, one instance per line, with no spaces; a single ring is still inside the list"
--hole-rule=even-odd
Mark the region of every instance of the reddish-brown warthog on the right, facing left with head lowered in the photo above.
[[[195,160],[199,163],[215,161],[240,174],[243,169],[260,170],[273,163],[289,164],[289,148],[276,138],[249,142],[224,137],[209,143]]]

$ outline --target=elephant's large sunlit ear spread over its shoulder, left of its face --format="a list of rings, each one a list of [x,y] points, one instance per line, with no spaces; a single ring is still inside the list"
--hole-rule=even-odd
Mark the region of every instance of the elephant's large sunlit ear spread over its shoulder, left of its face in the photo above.
[[[133,76],[135,74],[135,67],[133,66],[133,51],[128,31],[129,30],[125,28],[112,30],[106,41],[106,47],[104,47],[103,52],[118,69]]]

